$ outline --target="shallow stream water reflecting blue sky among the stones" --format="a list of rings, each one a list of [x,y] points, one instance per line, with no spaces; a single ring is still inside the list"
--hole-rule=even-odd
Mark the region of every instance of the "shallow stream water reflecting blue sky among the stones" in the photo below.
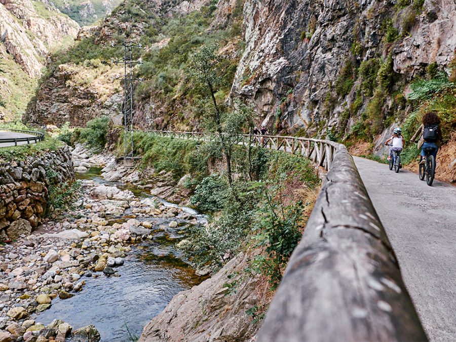
[[[91,169],[80,179],[93,179],[105,185],[129,189],[137,197],[150,197],[141,189],[122,183],[106,182],[99,176],[100,169]],[[168,206],[174,204],[164,202]],[[182,208],[205,221],[191,208]],[[127,219],[125,219],[127,220]],[[131,244],[132,251],[123,266],[116,270],[120,277],[86,278],[83,290],[69,299],[53,299],[52,307],[36,317],[45,325],[58,318],[77,329],[89,324],[100,332],[101,341],[121,342],[136,340],[142,328],[168,305],[179,291],[201,283],[195,271],[183,260],[175,245],[185,236],[185,227],[168,227],[164,220],[153,226],[153,241]]]

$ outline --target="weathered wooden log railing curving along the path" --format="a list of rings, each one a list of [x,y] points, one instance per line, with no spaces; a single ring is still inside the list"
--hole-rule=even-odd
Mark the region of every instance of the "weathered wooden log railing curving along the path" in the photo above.
[[[217,137],[151,133],[197,140]],[[247,137],[239,136],[239,143],[248,144]],[[347,148],[327,140],[258,138],[255,144],[306,156],[328,174],[257,340],[427,340],[394,251]]]

